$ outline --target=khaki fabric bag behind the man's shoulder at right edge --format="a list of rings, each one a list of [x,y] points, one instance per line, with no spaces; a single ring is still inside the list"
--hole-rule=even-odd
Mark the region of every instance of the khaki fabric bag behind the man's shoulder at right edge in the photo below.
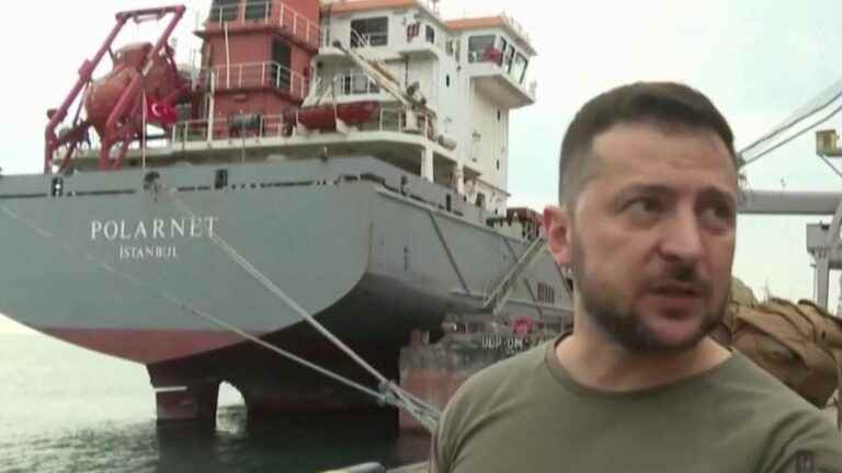
[[[735,279],[729,310],[714,337],[818,407],[828,404],[842,381],[842,321],[810,301],[758,302]]]

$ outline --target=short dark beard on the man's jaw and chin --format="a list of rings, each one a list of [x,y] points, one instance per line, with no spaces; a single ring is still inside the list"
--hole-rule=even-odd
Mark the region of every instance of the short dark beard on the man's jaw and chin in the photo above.
[[[713,332],[725,316],[728,297],[713,311],[706,312],[698,328],[692,335],[680,343],[665,343],[661,341],[646,323],[641,314],[629,304],[623,307],[622,296],[610,287],[598,287],[584,275],[584,251],[581,244],[573,242],[571,261],[573,279],[582,307],[590,314],[590,319],[598,328],[612,341],[629,351],[635,353],[680,353],[686,351]],[[693,266],[673,263],[664,274],[659,277],[662,281],[701,285],[705,288],[703,296],[710,292],[709,285],[699,280]]]

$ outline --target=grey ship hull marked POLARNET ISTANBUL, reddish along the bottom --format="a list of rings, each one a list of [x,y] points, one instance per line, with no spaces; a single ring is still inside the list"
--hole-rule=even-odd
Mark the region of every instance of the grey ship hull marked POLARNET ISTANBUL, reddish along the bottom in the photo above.
[[[277,392],[263,381],[299,372],[226,325],[360,379],[265,278],[397,377],[410,330],[479,310],[526,250],[527,240],[485,217],[374,159],[4,176],[0,312],[145,364],[157,387],[228,380],[246,395]],[[538,300],[539,282],[557,299]],[[569,313],[548,254],[505,310],[534,320]],[[265,364],[271,374],[249,374]],[[312,382],[286,391],[304,403],[319,390],[331,397]]]

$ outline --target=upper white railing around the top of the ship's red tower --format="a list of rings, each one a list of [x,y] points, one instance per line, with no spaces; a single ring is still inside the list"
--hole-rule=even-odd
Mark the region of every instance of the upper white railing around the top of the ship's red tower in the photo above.
[[[212,8],[208,26],[225,23],[278,26],[314,48],[319,46],[319,25],[283,1],[238,1]]]

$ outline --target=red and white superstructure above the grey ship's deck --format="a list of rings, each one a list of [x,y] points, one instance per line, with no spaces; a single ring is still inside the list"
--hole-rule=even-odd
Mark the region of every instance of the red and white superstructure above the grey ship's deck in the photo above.
[[[123,165],[374,155],[505,215],[510,111],[535,101],[526,33],[428,0],[305,3],[215,0],[192,108]],[[95,169],[95,146],[72,163]]]

